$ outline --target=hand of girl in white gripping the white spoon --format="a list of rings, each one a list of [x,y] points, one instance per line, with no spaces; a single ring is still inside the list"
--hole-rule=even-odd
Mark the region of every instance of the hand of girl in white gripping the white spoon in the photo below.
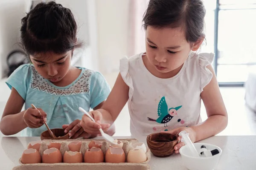
[[[102,113],[99,111],[90,111],[88,112],[90,116],[93,117],[95,122],[93,122],[86,114],[83,115],[80,125],[83,127],[84,131],[87,133],[90,133],[92,135],[98,135],[100,134],[99,129],[102,128],[102,130],[108,130],[110,127],[110,124],[101,124],[102,121]]]

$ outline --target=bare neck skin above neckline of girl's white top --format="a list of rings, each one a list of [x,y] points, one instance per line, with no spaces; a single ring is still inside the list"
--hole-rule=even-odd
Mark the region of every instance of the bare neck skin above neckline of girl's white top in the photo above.
[[[180,65],[180,67],[176,68],[173,71],[170,71],[168,73],[161,73],[159,71],[157,71],[153,65],[151,65],[151,63],[148,61],[148,58],[146,57],[146,55],[142,56],[143,59],[143,63],[145,65],[145,67],[148,69],[148,71],[154,75],[155,77],[161,78],[161,79],[169,79],[172,77],[175,77],[181,70],[183,65]]]

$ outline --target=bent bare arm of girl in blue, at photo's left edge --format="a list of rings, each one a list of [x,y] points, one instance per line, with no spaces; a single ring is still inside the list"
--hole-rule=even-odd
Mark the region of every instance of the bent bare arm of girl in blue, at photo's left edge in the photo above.
[[[23,104],[24,99],[12,88],[0,122],[0,130],[4,135],[16,134],[27,127],[23,119],[25,111],[20,112]]]

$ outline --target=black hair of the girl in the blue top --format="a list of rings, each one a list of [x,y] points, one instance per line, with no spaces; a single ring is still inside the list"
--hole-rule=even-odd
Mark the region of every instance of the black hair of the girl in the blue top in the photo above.
[[[76,20],[69,8],[55,2],[39,3],[21,20],[21,44],[28,54],[63,54],[81,47],[76,42]]]

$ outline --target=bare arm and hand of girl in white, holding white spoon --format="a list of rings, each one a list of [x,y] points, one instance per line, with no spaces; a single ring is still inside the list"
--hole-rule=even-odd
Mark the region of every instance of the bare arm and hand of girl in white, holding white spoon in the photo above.
[[[97,123],[94,123],[88,116],[84,115],[80,125],[90,134],[99,134],[100,127],[102,129],[108,128],[109,125],[112,125],[116,120],[117,116],[122,111],[122,108],[128,101],[128,92],[129,87],[125,84],[119,73],[115,85],[102,108],[89,112]]]

